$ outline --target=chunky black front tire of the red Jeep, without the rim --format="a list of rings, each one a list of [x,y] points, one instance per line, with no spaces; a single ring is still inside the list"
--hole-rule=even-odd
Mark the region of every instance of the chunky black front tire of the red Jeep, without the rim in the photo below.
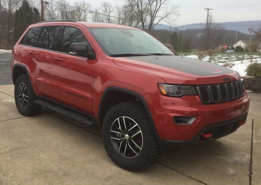
[[[133,119],[143,135],[143,147],[140,153],[134,158],[125,158],[113,147],[111,140],[111,127],[113,122],[121,117],[127,116]],[[114,105],[106,113],[102,124],[102,139],[104,148],[111,160],[123,169],[138,171],[155,163],[160,155],[157,139],[152,130],[146,110],[137,102],[126,101]]]

